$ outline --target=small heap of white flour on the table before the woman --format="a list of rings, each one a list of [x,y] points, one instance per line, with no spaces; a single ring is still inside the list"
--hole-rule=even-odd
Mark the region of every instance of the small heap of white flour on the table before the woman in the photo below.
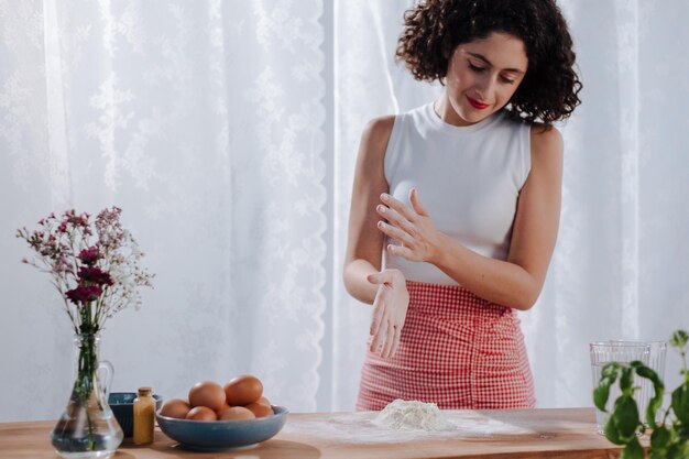
[[[401,398],[387,404],[372,423],[395,430],[437,431],[453,427],[435,403]]]

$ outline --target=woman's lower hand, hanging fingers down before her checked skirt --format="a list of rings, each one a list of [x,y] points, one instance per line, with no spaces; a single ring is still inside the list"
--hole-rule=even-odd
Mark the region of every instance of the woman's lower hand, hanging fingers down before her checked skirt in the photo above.
[[[406,280],[400,270],[383,270],[367,277],[378,285],[371,318],[371,352],[392,357],[400,345],[400,335],[409,306]]]

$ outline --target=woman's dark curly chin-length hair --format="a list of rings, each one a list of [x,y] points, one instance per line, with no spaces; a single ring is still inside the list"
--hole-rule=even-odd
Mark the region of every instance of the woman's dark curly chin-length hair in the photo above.
[[[418,80],[444,84],[459,44],[503,32],[524,42],[528,59],[505,107],[511,118],[549,125],[581,103],[572,40],[555,0],[422,0],[404,23],[396,57]]]

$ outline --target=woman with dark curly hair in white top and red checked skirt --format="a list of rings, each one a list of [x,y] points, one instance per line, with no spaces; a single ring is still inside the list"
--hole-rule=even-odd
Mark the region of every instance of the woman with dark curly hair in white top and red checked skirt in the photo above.
[[[397,58],[444,94],[374,119],[357,161],[344,284],[372,304],[358,409],[535,405],[515,309],[556,242],[581,84],[555,0],[426,0]]]

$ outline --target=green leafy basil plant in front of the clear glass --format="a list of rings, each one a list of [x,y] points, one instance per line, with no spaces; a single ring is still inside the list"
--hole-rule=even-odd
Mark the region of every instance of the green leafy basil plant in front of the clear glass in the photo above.
[[[650,430],[648,457],[650,459],[686,459],[689,458],[689,370],[687,369],[687,345],[689,335],[685,330],[677,330],[670,338],[670,346],[679,351],[682,359],[680,374],[681,382],[672,391],[670,406],[667,407],[663,419],[658,422],[657,413],[663,403],[665,384],[658,374],[639,361],[630,363],[612,362],[603,367],[601,380],[593,390],[595,407],[606,411],[610,387],[619,380],[621,395],[615,400],[608,423],[605,437],[615,445],[624,446],[621,459],[643,459],[646,451],[638,437]],[[634,392],[634,375],[649,380],[653,383],[654,396],[648,402],[645,413],[646,424],[641,419],[641,413]]]

